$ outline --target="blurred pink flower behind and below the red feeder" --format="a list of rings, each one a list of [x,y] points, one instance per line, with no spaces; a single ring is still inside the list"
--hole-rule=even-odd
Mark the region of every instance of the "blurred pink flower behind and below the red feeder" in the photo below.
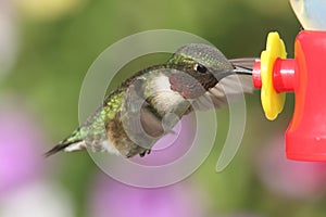
[[[259,177],[273,192],[296,199],[311,199],[325,193],[326,163],[287,159],[283,137],[260,151]]]

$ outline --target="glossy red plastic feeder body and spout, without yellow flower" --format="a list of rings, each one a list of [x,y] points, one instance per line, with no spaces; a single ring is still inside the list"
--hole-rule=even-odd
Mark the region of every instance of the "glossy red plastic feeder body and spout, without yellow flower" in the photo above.
[[[253,66],[253,84],[261,88],[260,62]],[[326,31],[301,31],[294,60],[277,59],[273,66],[277,92],[294,91],[296,107],[286,131],[287,157],[326,162]]]

